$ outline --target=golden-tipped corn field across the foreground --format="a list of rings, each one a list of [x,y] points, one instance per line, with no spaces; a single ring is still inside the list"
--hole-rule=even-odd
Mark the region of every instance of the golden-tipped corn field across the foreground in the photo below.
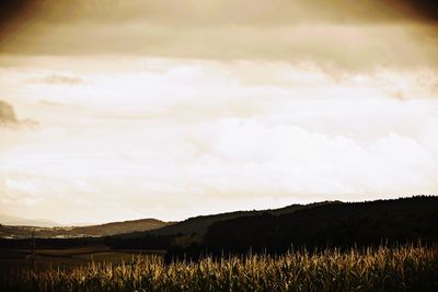
[[[438,248],[379,247],[19,270],[0,291],[438,291]]]

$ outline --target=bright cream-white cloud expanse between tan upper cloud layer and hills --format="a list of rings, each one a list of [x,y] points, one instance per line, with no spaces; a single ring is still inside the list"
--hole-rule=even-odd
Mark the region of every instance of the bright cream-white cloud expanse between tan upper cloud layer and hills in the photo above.
[[[0,212],[181,220],[438,189],[434,71],[132,58],[108,73],[79,58],[70,74],[89,83],[28,82],[64,74],[59,60],[1,71],[42,127],[1,132]]]

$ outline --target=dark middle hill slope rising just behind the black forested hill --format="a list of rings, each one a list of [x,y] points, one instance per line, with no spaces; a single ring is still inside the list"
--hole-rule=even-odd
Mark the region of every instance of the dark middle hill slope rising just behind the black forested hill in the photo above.
[[[262,213],[269,213],[274,215],[279,215],[284,213],[291,213],[297,210],[313,208],[316,206],[324,206],[324,205],[334,205],[334,203],[342,203],[341,201],[323,201],[323,202],[315,202],[309,205],[291,205],[279,209],[267,209],[267,210],[252,210],[252,211],[235,211],[235,212],[227,212],[227,213],[219,213],[219,214],[211,214],[211,215],[199,215],[186,219],[184,221],[177,222],[175,224],[166,225],[160,229],[154,229],[143,233],[131,233],[131,234],[123,234],[123,237],[138,237],[145,234],[152,234],[152,235],[194,235],[198,234],[201,235],[207,232],[207,229],[215,222],[237,219],[241,217],[253,217]]]

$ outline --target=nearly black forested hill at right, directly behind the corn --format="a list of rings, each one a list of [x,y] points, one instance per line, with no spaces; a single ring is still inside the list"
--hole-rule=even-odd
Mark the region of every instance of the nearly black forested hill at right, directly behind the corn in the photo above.
[[[381,243],[438,243],[438,197],[418,196],[322,205],[291,213],[263,213],[211,224],[204,237],[210,252],[285,252]]]

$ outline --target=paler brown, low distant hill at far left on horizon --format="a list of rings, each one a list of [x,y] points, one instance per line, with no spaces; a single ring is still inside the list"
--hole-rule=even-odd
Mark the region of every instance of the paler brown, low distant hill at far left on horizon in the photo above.
[[[0,225],[0,237],[2,238],[28,238],[34,232],[35,237],[44,238],[71,238],[71,237],[99,237],[130,232],[143,232],[173,224],[157,219],[140,219],[124,222],[113,222],[101,225],[89,226],[11,226]]]

